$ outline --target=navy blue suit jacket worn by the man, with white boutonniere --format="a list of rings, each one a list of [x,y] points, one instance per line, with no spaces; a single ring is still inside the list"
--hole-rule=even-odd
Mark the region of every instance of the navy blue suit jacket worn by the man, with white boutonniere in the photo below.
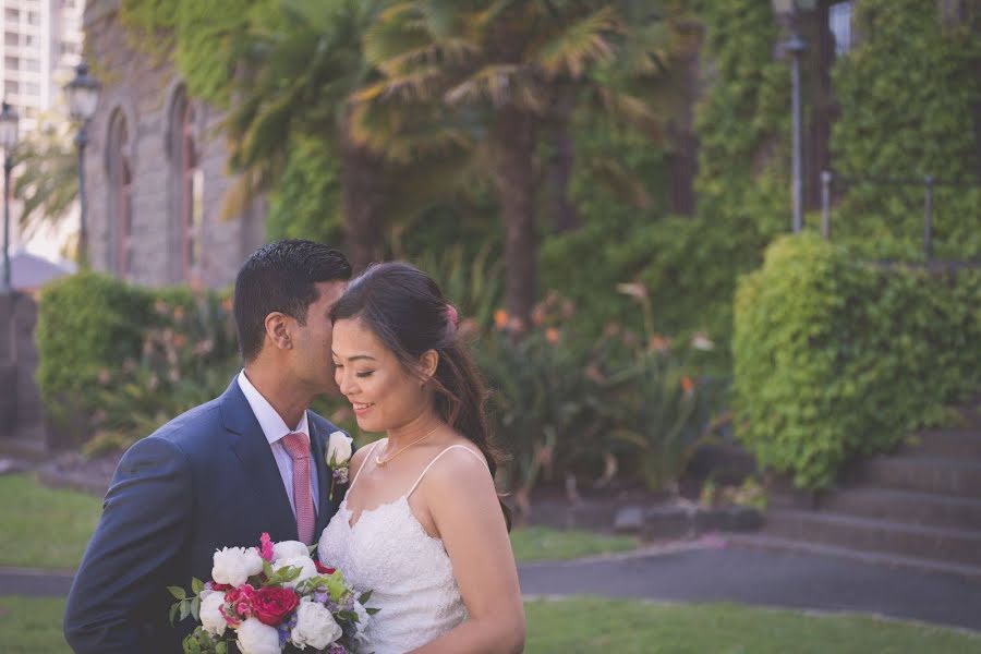
[[[337,511],[324,461],[337,427],[308,412],[317,464],[319,535]],[[211,577],[211,555],[227,546],[295,541],[296,520],[269,443],[232,380],[225,393],[137,441],[119,462],[102,517],[75,574],[64,635],[77,654],[180,653],[187,618],[171,627],[166,586],[190,589]]]

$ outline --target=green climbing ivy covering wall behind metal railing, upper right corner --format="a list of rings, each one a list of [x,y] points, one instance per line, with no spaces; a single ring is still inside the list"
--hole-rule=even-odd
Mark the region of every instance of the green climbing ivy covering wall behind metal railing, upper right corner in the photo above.
[[[862,0],[855,50],[834,69],[840,117],[832,133],[838,173],[960,180],[934,193],[937,256],[981,258],[981,4],[944,24],[941,2]],[[875,256],[921,254],[923,184],[856,183],[833,215],[838,238]]]

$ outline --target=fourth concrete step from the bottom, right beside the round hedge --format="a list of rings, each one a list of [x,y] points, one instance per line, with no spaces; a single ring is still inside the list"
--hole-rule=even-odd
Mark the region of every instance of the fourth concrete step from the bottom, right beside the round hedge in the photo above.
[[[847,475],[857,486],[874,486],[958,497],[981,497],[981,461],[947,457],[873,457]]]

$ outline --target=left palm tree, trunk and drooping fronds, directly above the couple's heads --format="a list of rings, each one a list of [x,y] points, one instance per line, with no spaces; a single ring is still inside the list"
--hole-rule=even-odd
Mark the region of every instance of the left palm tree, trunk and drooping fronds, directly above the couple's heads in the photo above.
[[[235,105],[225,121],[232,167],[243,172],[228,214],[275,185],[294,136],[319,140],[338,158],[347,250],[355,269],[383,258],[386,217],[411,215],[433,193],[445,193],[433,181],[450,179],[440,171],[467,149],[460,132],[419,102],[358,97],[378,77],[363,56],[362,37],[386,4],[284,1],[280,25],[256,24],[245,45],[237,46],[244,57],[232,81]],[[420,165],[432,155],[438,161]]]

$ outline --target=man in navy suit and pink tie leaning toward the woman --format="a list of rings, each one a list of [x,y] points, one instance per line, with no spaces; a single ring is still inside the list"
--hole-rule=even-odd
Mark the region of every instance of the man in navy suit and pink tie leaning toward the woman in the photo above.
[[[112,477],[75,576],[64,635],[77,654],[181,652],[193,620],[168,622],[168,585],[210,579],[225,546],[316,542],[330,495],[324,451],[337,431],[307,411],[336,390],[330,307],[351,278],[344,256],[311,241],[255,252],[235,279],[245,368],[225,393],[137,441]]]

